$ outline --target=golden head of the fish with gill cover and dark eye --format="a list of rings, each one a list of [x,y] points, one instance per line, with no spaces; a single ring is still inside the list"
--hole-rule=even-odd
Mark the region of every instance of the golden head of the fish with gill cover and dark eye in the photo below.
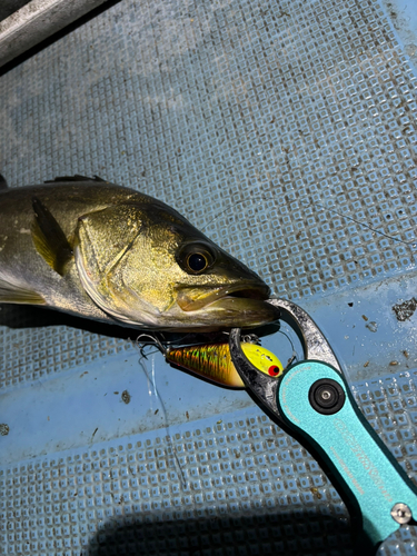
[[[86,215],[76,235],[82,286],[126,325],[209,331],[278,318],[255,272],[159,201]]]

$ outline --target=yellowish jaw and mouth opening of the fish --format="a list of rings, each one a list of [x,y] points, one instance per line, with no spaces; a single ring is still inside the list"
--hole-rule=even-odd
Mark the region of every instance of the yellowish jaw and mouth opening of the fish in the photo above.
[[[259,284],[236,284],[234,286],[221,286],[218,288],[185,288],[178,294],[177,302],[186,311],[196,311],[217,305],[226,299],[254,299],[265,301],[269,298],[270,289]]]

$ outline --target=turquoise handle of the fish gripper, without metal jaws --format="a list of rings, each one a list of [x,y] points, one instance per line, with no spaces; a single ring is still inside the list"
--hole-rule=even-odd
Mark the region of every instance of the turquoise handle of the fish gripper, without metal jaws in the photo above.
[[[318,413],[309,401],[311,386],[319,379],[335,380],[345,393],[345,403],[334,415]],[[363,554],[376,552],[399,527],[391,516],[396,504],[406,504],[417,518],[417,488],[365,419],[337,370],[320,361],[295,365],[282,376],[277,405],[345,499],[353,526],[359,528]]]

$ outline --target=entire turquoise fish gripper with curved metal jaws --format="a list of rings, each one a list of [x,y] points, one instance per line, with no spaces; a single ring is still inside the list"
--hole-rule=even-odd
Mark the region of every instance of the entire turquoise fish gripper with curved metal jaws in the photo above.
[[[297,438],[331,477],[351,518],[355,554],[376,554],[400,525],[415,525],[417,488],[356,405],[322,332],[296,304],[270,299],[298,335],[304,360],[269,377],[246,358],[240,329],[230,332],[231,359],[249,394]]]

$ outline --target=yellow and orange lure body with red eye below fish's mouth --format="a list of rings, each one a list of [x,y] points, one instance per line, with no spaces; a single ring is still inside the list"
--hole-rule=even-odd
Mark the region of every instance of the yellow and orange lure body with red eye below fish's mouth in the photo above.
[[[256,344],[242,342],[246,357],[262,373],[277,377],[282,370],[282,364],[268,349]],[[231,388],[245,388],[230,357],[228,344],[206,344],[170,348],[166,353],[168,363],[182,367],[212,383]]]

